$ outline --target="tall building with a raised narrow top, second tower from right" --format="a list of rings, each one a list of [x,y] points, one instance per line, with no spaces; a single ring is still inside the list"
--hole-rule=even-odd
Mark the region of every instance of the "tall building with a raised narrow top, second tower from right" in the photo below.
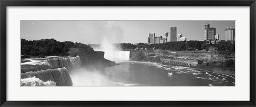
[[[204,40],[215,40],[216,28],[210,28],[210,24],[204,25]]]

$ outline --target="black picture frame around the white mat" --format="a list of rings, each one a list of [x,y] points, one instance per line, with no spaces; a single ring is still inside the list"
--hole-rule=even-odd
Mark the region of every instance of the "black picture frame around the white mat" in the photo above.
[[[255,0],[1,0],[1,106],[255,106]],[[250,6],[250,101],[6,101],[7,6]]]

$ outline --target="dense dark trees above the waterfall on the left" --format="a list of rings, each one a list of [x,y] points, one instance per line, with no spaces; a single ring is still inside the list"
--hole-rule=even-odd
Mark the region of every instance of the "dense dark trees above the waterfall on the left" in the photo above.
[[[30,56],[67,55],[70,48],[77,48],[79,52],[91,52],[93,49],[83,43],[60,42],[54,39],[25,40],[21,39],[21,54]]]

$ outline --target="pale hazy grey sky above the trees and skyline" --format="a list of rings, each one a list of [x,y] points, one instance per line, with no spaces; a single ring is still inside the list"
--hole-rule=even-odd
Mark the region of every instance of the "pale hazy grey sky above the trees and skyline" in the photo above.
[[[149,33],[163,36],[170,27],[177,27],[177,34],[182,33],[187,40],[204,39],[204,25],[216,28],[220,39],[224,39],[224,30],[235,21],[21,21],[21,38],[39,40],[54,38],[58,41],[81,43],[147,43]]]

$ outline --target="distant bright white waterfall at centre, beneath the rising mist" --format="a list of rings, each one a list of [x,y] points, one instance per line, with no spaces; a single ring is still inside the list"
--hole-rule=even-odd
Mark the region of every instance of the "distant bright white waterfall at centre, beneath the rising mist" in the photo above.
[[[130,51],[105,51],[104,58],[115,61],[129,60]]]

